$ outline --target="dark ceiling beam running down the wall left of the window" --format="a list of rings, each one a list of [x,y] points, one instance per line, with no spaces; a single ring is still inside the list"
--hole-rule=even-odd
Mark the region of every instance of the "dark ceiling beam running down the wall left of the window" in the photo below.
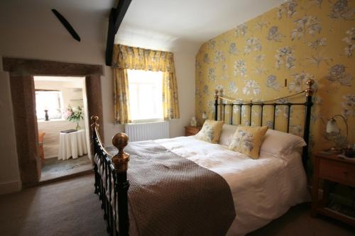
[[[109,28],[107,30],[107,44],[106,44],[106,65],[111,66],[112,54],[114,52],[114,36],[119,30],[124,15],[126,15],[127,9],[129,9],[131,0],[119,0],[116,9],[111,9],[109,15]]]

